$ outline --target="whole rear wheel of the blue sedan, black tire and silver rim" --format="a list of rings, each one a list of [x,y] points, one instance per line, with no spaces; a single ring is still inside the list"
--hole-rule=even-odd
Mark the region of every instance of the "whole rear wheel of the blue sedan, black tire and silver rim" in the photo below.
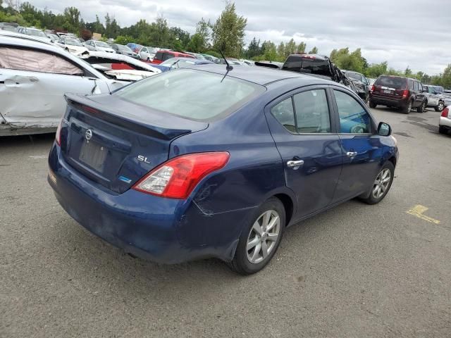
[[[230,268],[240,275],[259,272],[276,253],[284,230],[285,208],[279,199],[271,197],[243,228]]]

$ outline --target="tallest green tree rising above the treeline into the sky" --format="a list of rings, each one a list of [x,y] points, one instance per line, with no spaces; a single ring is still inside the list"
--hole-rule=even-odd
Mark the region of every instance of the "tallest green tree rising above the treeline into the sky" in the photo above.
[[[245,45],[246,25],[247,19],[237,15],[235,4],[227,2],[221,16],[211,27],[214,49],[222,51],[225,56],[239,57]]]

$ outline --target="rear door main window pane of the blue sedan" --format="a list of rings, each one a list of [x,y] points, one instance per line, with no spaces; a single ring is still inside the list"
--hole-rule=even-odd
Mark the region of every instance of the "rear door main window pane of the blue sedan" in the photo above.
[[[326,90],[316,89],[293,96],[295,101],[297,132],[330,132],[329,107]]]

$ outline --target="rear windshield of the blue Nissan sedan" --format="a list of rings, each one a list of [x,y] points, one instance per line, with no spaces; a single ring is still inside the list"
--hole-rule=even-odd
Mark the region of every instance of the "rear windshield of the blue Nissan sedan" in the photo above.
[[[232,113],[264,91],[259,84],[235,77],[180,69],[130,84],[116,95],[183,118],[209,121]]]

